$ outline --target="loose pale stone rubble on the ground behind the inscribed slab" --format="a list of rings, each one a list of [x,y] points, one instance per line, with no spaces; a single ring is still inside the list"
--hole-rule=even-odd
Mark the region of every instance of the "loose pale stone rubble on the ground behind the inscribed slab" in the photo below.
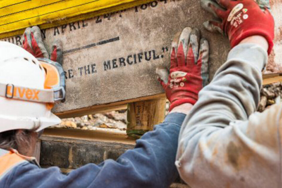
[[[281,103],[282,83],[263,86],[258,111],[263,112],[273,104]],[[168,114],[169,103],[166,106]],[[85,115],[82,117],[63,119],[56,127],[83,130],[96,130],[96,128],[126,130],[127,110],[112,111],[102,114]]]

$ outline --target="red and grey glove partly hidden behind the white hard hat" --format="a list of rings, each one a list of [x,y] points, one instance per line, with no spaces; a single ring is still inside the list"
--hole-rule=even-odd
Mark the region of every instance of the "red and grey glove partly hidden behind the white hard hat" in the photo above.
[[[22,47],[36,58],[47,58],[62,64],[62,43],[56,41],[49,56],[42,41],[41,30],[38,26],[28,27],[24,31]]]

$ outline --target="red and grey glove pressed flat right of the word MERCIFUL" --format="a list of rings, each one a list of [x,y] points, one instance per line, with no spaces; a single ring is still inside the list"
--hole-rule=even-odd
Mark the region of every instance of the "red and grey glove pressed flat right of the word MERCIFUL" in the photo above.
[[[200,48],[200,49],[199,49]],[[172,42],[169,75],[164,69],[157,69],[159,81],[174,107],[198,100],[199,91],[208,83],[209,44],[200,40],[197,29],[185,28]],[[168,76],[168,78],[167,78]]]

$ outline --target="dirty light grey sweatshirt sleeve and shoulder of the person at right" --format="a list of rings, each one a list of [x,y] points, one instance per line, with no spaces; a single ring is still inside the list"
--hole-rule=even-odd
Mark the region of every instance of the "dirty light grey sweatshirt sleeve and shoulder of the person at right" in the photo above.
[[[281,187],[281,105],[255,113],[267,53],[233,48],[182,125],[176,166],[197,187]]]

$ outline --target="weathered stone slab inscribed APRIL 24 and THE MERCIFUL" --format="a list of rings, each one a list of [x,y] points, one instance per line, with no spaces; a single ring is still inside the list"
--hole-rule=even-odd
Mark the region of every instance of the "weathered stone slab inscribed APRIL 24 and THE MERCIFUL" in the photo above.
[[[271,5],[276,21],[276,43],[270,65],[274,62],[278,68],[268,67],[265,75],[282,70],[277,63],[282,62],[280,1],[273,1]],[[158,0],[118,14],[42,29],[48,48],[58,39],[64,47],[66,102],[58,103],[53,112],[61,117],[78,116],[135,102],[136,98],[163,95],[155,69],[169,67],[171,41],[186,26],[199,28],[209,40],[211,80],[226,61],[230,47],[226,37],[203,28],[202,23],[209,19],[212,15],[201,8],[199,0]],[[3,40],[21,45],[21,36]],[[264,83],[277,82],[279,77],[267,79]]]

